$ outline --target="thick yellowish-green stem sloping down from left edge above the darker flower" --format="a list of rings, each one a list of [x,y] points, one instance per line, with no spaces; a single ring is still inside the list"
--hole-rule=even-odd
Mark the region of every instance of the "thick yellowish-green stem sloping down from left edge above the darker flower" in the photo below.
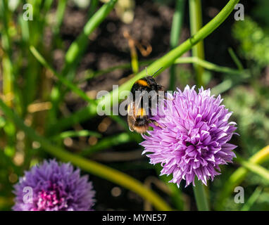
[[[160,198],[154,191],[146,188],[143,184],[141,184],[136,179],[133,179],[131,176],[128,176],[123,172],[119,172],[116,169],[101,165],[98,162],[86,160],[85,158],[82,158],[78,155],[69,153],[61,147],[54,146],[44,137],[39,136],[31,127],[27,127],[23,120],[21,120],[18,115],[13,113],[13,110],[8,108],[8,106],[1,99],[0,108],[6,117],[8,117],[8,119],[10,119],[19,129],[22,129],[25,134],[27,134],[27,136],[32,139],[32,141],[38,141],[47,153],[54,155],[56,158],[59,158],[63,161],[72,162],[73,165],[84,169],[86,172],[100,176],[101,178],[134,191],[134,193],[141,195],[142,198],[149,200],[149,202],[151,202],[157,210],[172,210],[170,206],[167,205],[165,201]]]

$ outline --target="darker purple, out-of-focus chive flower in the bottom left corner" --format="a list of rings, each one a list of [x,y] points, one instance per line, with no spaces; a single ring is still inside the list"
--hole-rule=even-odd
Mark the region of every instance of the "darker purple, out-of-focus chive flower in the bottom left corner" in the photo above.
[[[15,185],[15,211],[89,211],[92,183],[70,163],[49,160],[32,167]]]

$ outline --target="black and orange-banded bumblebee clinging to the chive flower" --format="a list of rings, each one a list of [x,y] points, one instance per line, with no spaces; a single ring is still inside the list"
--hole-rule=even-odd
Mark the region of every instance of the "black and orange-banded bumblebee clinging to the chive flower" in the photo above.
[[[154,75],[155,74],[156,72]],[[151,122],[158,125],[155,121],[150,119],[152,106],[151,102],[153,101],[153,98],[158,99],[158,91],[163,91],[163,86],[157,84],[156,80],[154,79],[154,75],[138,79],[137,82],[135,82],[132,86],[131,94],[133,97],[135,96],[135,98],[127,106],[127,122],[130,131],[145,133],[147,129],[149,129],[149,124]],[[141,94],[137,96],[136,91],[141,91],[139,92]],[[147,93],[150,91],[156,91],[155,96],[149,96],[149,103],[146,104],[143,104],[144,91],[147,91]]]

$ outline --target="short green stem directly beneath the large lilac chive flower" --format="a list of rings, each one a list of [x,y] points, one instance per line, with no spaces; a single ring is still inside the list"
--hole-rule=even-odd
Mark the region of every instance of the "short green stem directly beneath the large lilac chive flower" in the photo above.
[[[197,209],[199,211],[209,211],[208,200],[206,198],[206,191],[201,181],[195,178],[194,196],[196,200]]]

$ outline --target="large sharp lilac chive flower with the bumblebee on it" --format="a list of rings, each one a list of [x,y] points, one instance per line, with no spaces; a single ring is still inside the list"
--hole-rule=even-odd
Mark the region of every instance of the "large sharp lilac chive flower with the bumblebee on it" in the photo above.
[[[162,115],[152,117],[161,127],[151,124],[154,130],[141,143],[142,154],[151,153],[146,155],[150,163],[161,163],[161,175],[173,174],[170,182],[177,186],[182,179],[186,186],[195,185],[195,176],[206,185],[220,174],[219,165],[236,157],[232,150],[237,146],[227,143],[237,129],[235,122],[228,122],[232,113],[220,105],[220,96],[211,96],[210,89],[201,87],[197,94],[194,87],[168,94]]]

